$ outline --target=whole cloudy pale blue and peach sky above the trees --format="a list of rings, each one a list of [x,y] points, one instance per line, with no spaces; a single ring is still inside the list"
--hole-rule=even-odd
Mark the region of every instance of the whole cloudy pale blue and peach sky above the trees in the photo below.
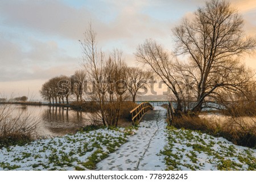
[[[256,37],[256,1],[231,0],[245,20],[245,32]],[[0,98],[28,95],[41,99],[48,79],[82,69],[79,40],[92,23],[97,44],[108,53],[121,49],[129,66],[145,39],[174,48],[171,29],[189,18],[203,0],[2,0],[0,6]],[[256,54],[244,56],[256,69]]]

